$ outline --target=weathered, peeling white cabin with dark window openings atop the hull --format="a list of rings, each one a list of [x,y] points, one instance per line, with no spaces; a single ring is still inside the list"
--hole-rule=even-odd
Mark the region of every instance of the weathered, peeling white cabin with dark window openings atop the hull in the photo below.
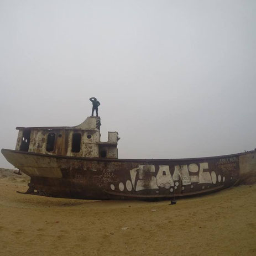
[[[101,142],[101,118],[87,117],[74,127],[17,127],[15,150],[49,155],[87,158],[118,158],[117,132],[108,132],[108,141]]]

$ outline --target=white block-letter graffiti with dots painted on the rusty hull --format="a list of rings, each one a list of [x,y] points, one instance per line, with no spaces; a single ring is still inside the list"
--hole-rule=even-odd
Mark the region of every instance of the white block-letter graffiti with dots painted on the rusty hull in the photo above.
[[[235,158],[236,159],[236,158]],[[226,160],[226,164],[230,166],[237,163],[237,159],[232,158]],[[215,165],[216,166],[216,165]],[[227,174],[227,173],[226,173]],[[185,190],[189,186],[189,189],[193,189],[195,185],[202,185],[201,189],[209,187],[210,185],[222,185],[226,180],[225,174],[222,170],[210,170],[208,162],[191,163],[183,165],[138,165],[129,171],[130,179],[119,182],[119,184],[111,183],[112,190],[123,191],[142,191],[142,190],[156,190],[166,189],[169,192],[173,192],[177,187],[181,186],[181,190]],[[232,180],[232,177],[229,177]],[[166,191],[167,192],[167,191]]]

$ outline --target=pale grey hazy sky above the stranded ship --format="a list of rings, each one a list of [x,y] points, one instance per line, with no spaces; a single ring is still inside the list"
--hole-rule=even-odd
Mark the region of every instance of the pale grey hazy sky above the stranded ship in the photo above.
[[[0,1],[0,147],[101,102],[119,158],[256,148],[256,1]],[[11,167],[0,156],[0,166]]]

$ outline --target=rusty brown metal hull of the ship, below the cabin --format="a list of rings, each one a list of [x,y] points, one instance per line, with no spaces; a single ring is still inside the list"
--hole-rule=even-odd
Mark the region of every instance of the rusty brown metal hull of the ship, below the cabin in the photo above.
[[[155,199],[205,194],[256,173],[256,152],[191,159],[101,159],[2,149],[31,177],[29,194]]]

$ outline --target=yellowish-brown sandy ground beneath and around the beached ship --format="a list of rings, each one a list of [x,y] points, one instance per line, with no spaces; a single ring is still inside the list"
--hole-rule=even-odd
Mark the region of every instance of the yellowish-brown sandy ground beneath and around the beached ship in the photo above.
[[[256,185],[169,201],[23,195],[0,170],[1,255],[256,255]]]

